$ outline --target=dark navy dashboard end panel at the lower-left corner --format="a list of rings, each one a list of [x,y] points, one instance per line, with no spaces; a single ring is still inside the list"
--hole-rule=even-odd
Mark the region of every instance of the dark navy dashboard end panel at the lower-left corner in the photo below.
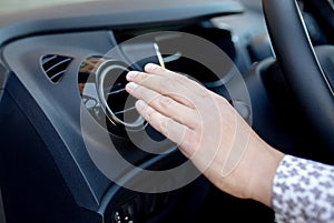
[[[9,80],[9,84],[14,84],[12,88],[17,91],[22,90],[14,80]],[[53,145],[47,145],[49,142],[40,138],[36,132],[36,123],[27,119],[27,113],[32,115],[33,112],[45,125],[48,123],[35,104],[30,103],[28,94],[24,100],[31,108],[21,110],[6,92],[0,103],[0,125],[6,126],[0,129],[0,182],[7,223],[101,222],[100,215],[77,205],[56,166],[55,153],[46,150]],[[46,133],[52,134],[52,131]],[[57,144],[60,152],[63,144]],[[67,154],[58,155],[68,160]],[[72,170],[72,178],[76,179],[78,173],[71,165],[69,162],[68,169]],[[86,197],[87,204],[91,204],[91,193],[85,190],[85,183],[81,182],[81,195]]]

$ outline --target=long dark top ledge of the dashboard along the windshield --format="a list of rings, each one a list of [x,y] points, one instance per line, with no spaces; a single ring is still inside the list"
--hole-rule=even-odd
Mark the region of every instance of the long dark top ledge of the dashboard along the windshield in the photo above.
[[[243,6],[232,0],[94,1],[59,6],[0,17],[0,47],[18,38],[52,32],[140,27],[196,21],[240,13]]]

